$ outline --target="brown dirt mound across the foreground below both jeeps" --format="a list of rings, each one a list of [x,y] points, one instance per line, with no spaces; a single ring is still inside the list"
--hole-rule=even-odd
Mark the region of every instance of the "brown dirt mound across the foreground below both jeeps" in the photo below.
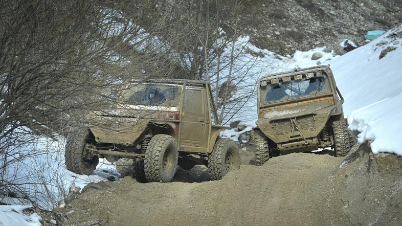
[[[293,153],[222,180],[140,184],[130,177],[90,184],[66,208],[69,225],[400,225],[402,159],[366,144],[346,161]],[[356,150],[357,149],[357,150]],[[242,151],[243,163],[252,153]],[[205,168],[175,180],[207,179]]]

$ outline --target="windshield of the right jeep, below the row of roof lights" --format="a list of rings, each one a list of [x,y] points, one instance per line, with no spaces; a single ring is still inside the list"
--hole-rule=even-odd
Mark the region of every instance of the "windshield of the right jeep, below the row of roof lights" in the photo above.
[[[260,87],[261,103],[291,100],[330,92],[326,77],[303,78]]]

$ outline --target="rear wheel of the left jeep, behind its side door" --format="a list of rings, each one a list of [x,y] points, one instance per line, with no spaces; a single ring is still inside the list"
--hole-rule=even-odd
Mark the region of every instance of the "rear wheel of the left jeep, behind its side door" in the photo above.
[[[230,139],[216,141],[208,157],[208,174],[211,180],[219,180],[228,172],[240,169],[240,153],[237,144]]]

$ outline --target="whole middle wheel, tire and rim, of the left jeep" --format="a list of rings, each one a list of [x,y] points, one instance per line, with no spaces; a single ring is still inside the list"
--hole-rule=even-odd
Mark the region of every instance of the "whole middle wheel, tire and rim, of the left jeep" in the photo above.
[[[144,169],[148,182],[171,182],[177,168],[178,148],[173,137],[154,135],[145,153]]]

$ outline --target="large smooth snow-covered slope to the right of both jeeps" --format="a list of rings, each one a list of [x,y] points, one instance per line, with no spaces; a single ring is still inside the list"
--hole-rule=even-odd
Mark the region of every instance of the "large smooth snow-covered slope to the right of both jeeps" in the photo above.
[[[331,63],[345,98],[349,128],[361,132],[360,142],[372,140],[374,153],[402,155],[401,45],[398,26]],[[391,51],[380,59],[387,50]]]

